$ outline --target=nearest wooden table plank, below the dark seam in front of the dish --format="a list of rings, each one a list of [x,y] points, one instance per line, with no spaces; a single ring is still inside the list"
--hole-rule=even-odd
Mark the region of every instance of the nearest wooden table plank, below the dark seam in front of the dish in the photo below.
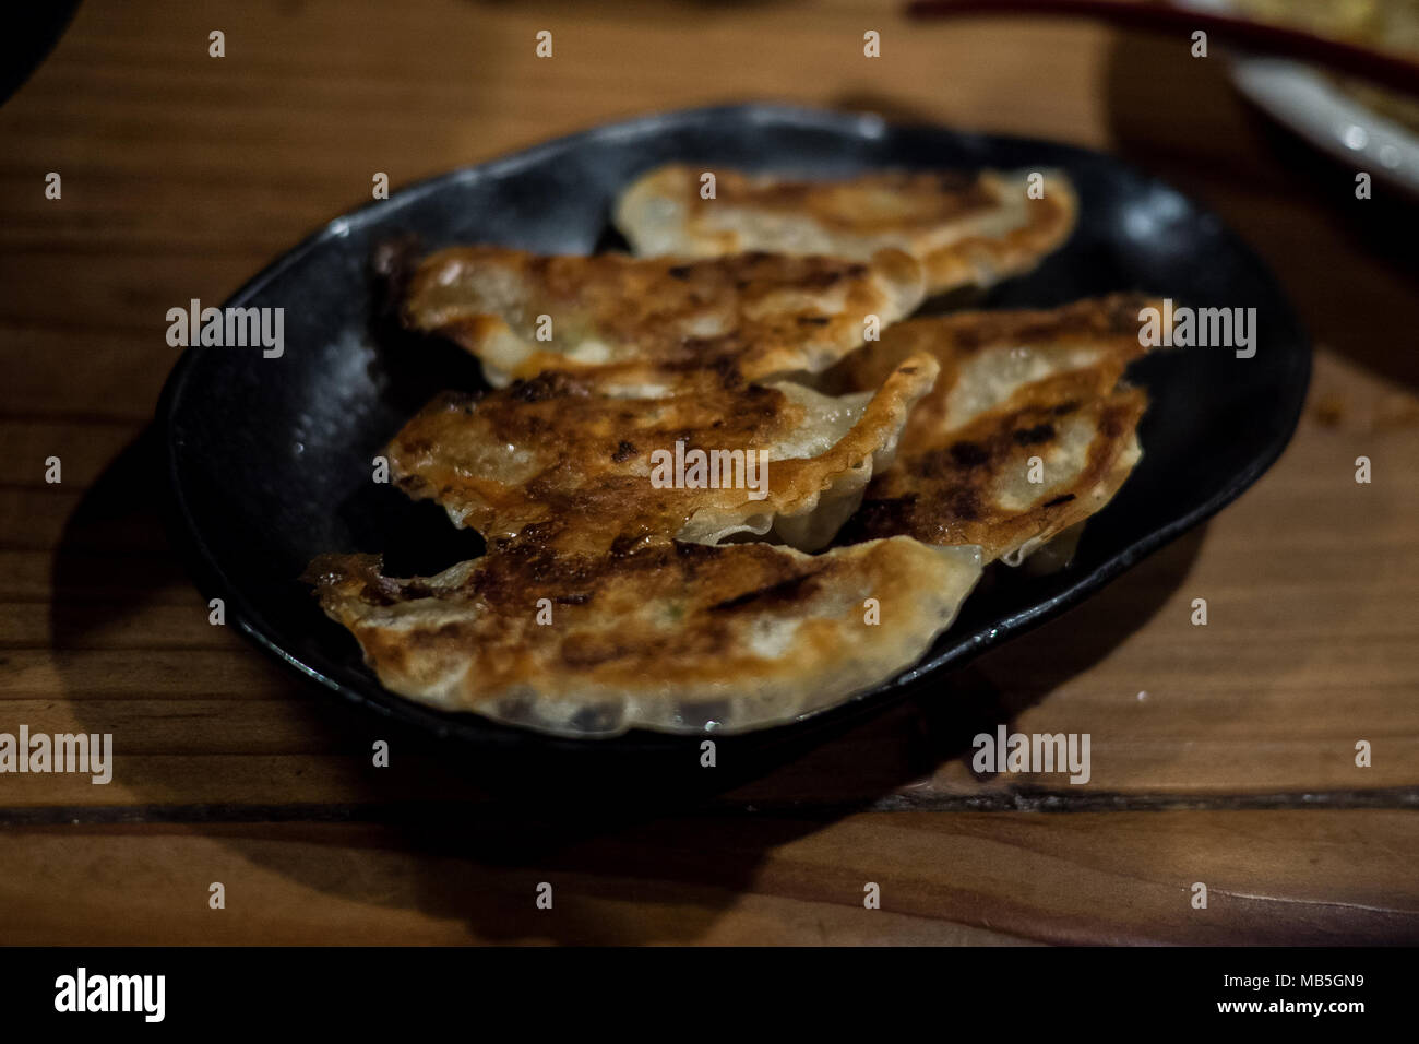
[[[1396,811],[908,811],[832,822],[708,814],[592,838],[488,821],[458,838],[448,825],[16,830],[14,874],[0,879],[13,910],[7,936],[1225,943],[1247,925],[1257,943],[1392,943],[1412,942],[1419,925],[1419,910],[1395,899],[1413,886],[1419,817]],[[1366,854],[1359,875],[1357,849]],[[17,878],[55,882],[70,901],[37,908]],[[211,882],[226,889],[224,910],[207,908]],[[552,885],[551,910],[534,905],[542,882]],[[881,888],[881,909],[863,909],[868,882]],[[1206,909],[1191,903],[1199,882]]]

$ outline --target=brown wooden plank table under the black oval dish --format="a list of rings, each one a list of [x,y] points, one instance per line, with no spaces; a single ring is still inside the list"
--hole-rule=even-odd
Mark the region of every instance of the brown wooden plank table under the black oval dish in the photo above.
[[[210,626],[167,550],[140,440],[173,365],[166,310],[221,300],[376,170],[397,186],[746,98],[1073,141],[1206,200],[1315,335],[1294,443],[1205,528],[935,699],[695,808],[509,820],[402,733],[373,768],[387,726]],[[1355,200],[1352,172],[1250,114],[1220,57],[847,0],[87,0],[0,108],[0,732],[118,751],[109,785],[0,776],[0,942],[1419,940],[1413,212]],[[1093,780],[978,780],[959,706],[1090,732]]]

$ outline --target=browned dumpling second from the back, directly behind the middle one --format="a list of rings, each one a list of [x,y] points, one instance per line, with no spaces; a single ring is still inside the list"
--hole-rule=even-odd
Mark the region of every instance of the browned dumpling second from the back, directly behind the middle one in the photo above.
[[[467,348],[497,388],[545,369],[619,364],[753,381],[826,369],[871,325],[911,314],[922,294],[921,266],[900,250],[683,260],[475,246],[419,264],[404,322]]]

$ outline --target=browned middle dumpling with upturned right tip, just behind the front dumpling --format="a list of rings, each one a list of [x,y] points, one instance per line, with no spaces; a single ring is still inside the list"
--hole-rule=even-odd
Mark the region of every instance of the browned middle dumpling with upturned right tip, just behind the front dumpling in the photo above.
[[[771,533],[812,551],[891,463],[937,372],[932,357],[908,357],[874,389],[827,396],[712,372],[657,386],[623,368],[548,371],[434,401],[394,437],[390,469],[488,540],[555,523],[563,553]]]

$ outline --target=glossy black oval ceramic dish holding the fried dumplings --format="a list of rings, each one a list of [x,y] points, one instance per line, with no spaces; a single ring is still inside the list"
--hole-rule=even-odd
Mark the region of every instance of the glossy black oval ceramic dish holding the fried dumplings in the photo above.
[[[614,246],[616,192],[673,159],[819,176],[868,168],[1063,168],[1080,227],[1034,273],[990,291],[989,307],[1047,307],[1112,290],[1179,303],[1254,307],[1259,347],[1162,351],[1134,366],[1148,388],[1142,463],[1090,520],[1073,564],[1012,572],[968,599],[917,668],[849,705],[731,741],[762,750],[880,707],[1081,601],[1250,486],[1296,426],[1310,348],[1267,270],[1206,210],[1117,161],[1037,141],[890,126],[873,116],[742,105],[656,115],[457,170],[336,219],[243,287],[227,305],[285,308],[281,358],[190,348],[163,392],[172,510],[204,591],[227,621],[332,692],[482,754],[680,757],[691,737],[633,732],[563,740],[446,714],[386,692],[355,641],[325,619],[297,577],[322,551],[386,551],[392,572],[430,572],[481,551],[441,510],[370,482],[370,460],[443,388],[480,385],[451,347],[410,341],[380,320],[370,259],[416,236],[423,247],[499,243],[543,253]],[[942,692],[941,699],[949,699]],[[542,760],[542,757],[538,757]]]

